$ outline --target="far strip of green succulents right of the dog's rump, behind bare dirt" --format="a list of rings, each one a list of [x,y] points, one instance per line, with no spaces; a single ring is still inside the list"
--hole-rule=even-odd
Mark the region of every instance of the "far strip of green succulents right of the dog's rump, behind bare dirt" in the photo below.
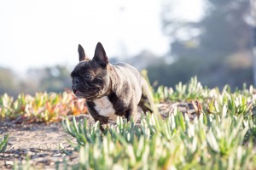
[[[213,99],[214,101],[218,100],[220,105],[230,106],[243,104],[244,106],[247,102],[250,102],[250,105],[253,104],[253,86],[250,86],[247,89],[244,84],[241,90],[236,89],[234,93],[231,93],[229,85],[225,85],[223,90],[220,92],[218,88],[207,88],[201,85],[201,82],[198,82],[197,77],[192,77],[187,84],[178,82],[175,85],[175,88],[168,88],[165,86],[160,86],[154,90],[154,100],[156,102],[160,101],[191,101],[198,99],[200,101],[209,102]],[[235,101],[236,100],[236,101]]]

